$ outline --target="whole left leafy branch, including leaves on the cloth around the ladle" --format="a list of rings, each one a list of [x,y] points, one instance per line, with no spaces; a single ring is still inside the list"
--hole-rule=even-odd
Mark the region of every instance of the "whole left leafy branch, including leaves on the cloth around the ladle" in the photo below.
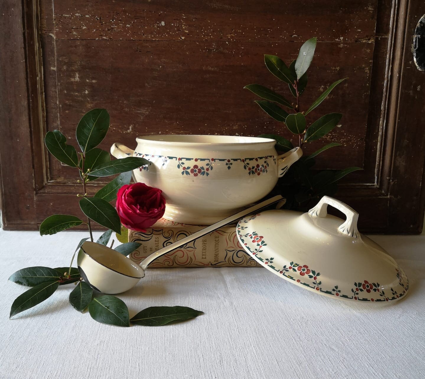
[[[150,162],[138,157],[111,161],[109,153],[97,147],[108,133],[109,122],[109,114],[105,109],[92,109],[82,116],[76,132],[81,153],[77,153],[74,146],[66,143],[66,137],[59,130],[46,133],[45,144],[48,151],[62,164],[75,167],[79,171],[80,179],[77,180],[77,183],[82,184],[82,194],[78,193],[77,197],[80,198],[79,206],[87,217],[87,222],[74,215],[51,215],[41,223],[40,235],[53,235],[84,224],[87,225],[89,238],[93,242],[91,223],[95,222],[108,228],[96,243],[106,246],[112,231],[115,231],[117,238],[121,239],[121,221],[116,209],[110,203],[116,200],[118,190],[124,184],[130,183],[132,170],[150,164]],[[87,184],[89,182],[99,177],[116,174],[119,175],[99,189],[93,197],[88,196]],[[88,308],[94,320],[105,324],[130,326],[131,322],[135,325],[165,325],[202,314],[200,311],[186,307],[150,307],[139,312],[130,320],[127,305],[122,300],[111,295],[95,294],[94,289],[82,280],[79,269],[72,267],[77,251],[89,238],[79,241],[69,267],[56,269],[43,266],[27,267],[12,274],[9,280],[31,288],[14,300],[10,317],[40,304],[51,297],[59,286],[70,283],[74,283],[76,286],[69,295],[69,303],[80,312]],[[115,250],[127,256],[139,246],[139,243],[127,242],[116,246]]]

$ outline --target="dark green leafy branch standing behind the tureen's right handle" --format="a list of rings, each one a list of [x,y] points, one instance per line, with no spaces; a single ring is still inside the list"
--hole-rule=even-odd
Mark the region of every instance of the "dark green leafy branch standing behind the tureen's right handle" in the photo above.
[[[331,93],[331,91],[341,82],[339,79],[332,83],[314,102],[305,110],[301,102],[301,95],[304,93],[307,82],[307,70],[312,63],[316,50],[316,38],[310,38],[301,46],[297,59],[293,60],[289,66],[282,59],[275,55],[264,55],[264,63],[267,69],[280,81],[288,84],[289,91],[295,97],[295,102],[290,102],[284,96],[259,84],[249,84],[244,88],[248,89],[263,100],[255,100],[255,103],[278,122],[285,124],[287,129],[297,136],[299,147],[304,144],[316,141],[336,127],[341,118],[340,113],[329,113],[309,122],[306,116],[318,107]],[[283,107],[285,108],[283,108]],[[276,150],[287,152],[294,146],[291,141],[283,136],[274,134],[263,134],[260,137],[276,140]],[[314,159],[320,153],[331,147],[340,146],[340,143],[332,142],[310,156],[304,156],[295,162],[288,173],[280,178],[273,192],[281,193],[287,199],[285,207],[292,209],[308,209],[312,200],[318,200],[323,195],[333,195],[336,190],[336,182],[360,167],[348,167],[345,170],[324,170],[313,174],[312,167]]]

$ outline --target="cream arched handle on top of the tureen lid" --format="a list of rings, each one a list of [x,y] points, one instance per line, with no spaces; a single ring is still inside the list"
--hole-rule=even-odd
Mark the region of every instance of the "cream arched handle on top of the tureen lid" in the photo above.
[[[311,217],[326,217],[328,214],[328,205],[333,206],[346,215],[347,219],[344,223],[338,226],[338,232],[344,235],[348,235],[352,238],[357,238],[360,235],[359,230],[357,229],[357,220],[359,219],[359,214],[353,208],[351,208],[351,206],[348,206],[342,201],[330,198],[329,196],[323,196],[317,205],[309,210],[309,215]]]

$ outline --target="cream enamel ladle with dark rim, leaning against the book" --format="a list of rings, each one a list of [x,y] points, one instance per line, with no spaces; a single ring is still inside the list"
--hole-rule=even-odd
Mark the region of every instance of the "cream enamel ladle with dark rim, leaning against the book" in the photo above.
[[[251,213],[258,212],[282,199],[283,198],[280,195],[274,196],[259,204],[244,209],[235,215],[229,216],[224,220],[207,226],[198,232],[188,235],[187,237],[152,253],[146,257],[142,263],[140,263],[140,266],[116,250],[99,243],[86,241],[82,244],[81,249],[78,252],[77,263],[79,272],[85,282],[96,291],[100,291],[105,294],[119,294],[133,288],[139,280],[144,277],[144,270],[146,270],[147,266],[156,260],[156,258],[159,258],[174,249],[178,249],[197,238],[214,232],[229,223],[246,217]]]

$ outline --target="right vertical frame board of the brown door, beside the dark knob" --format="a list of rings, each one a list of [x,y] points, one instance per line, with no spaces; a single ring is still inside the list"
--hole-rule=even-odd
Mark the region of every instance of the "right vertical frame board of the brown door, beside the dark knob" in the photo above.
[[[394,144],[389,181],[388,232],[416,232],[422,228],[424,209],[424,161],[425,161],[425,75],[412,62],[412,34],[417,21],[424,13],[423,4],[400,4],[398,30],[399,45],[403,51],[396,64],[401,67],[399,82],[393,83],[391,99],[394,102]],[[406,16],[406,17],[403,17]],[[404,27],[404,33],[402,32]],[[419,74],[418,74],[419,73]],[[394,79],[395,81],[395,79]],[[398,98],[397,98],[398,95]],[[393,121],[394,120],[394,121]],[[418,215],[418,217],[412,217]]]

